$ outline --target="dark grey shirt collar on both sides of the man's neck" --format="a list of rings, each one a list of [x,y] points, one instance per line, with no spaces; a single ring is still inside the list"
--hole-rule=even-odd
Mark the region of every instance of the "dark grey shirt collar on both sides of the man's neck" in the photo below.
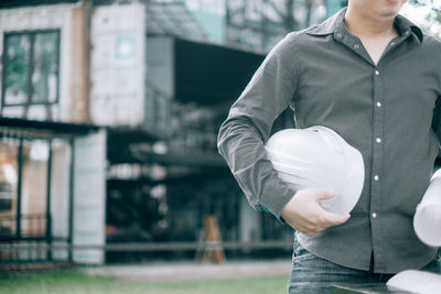
[[[306,29],[305,33],[310,35],[329,35],[333,33],[343,34],[347,32],[346,26],[344,25],[343,22],[345,14],[346,14],[346,8],[343,8],[337,13],[335,13],[333,17],[329,18],[321,24]],[[406,32],[409,32],[413,35],[413,39],[418,43],[422,43],[423,33],[421,29],[418,28],[416,24],[413,24],[411,21],[398,14],[395,18],[394,23],[400,35],[405,35]]]

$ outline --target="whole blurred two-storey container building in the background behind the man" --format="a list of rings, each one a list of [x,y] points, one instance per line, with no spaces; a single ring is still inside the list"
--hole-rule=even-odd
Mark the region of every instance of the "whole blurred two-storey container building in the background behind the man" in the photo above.
[[[341,3],[0,2],[0,241],[26,241],[17,224],[33,211],[45,224],[34,236],[42,238],[28,240],[36,244],[104,244],[104,236],[107,243],[196,243],[206,215],[226,241],[289,241],[288,228],[248,206],[217,154],[216,135],[269,48],[323,20],[326,7]],[[287,111],[275,130],[292,123]],[[43,127],[47,135],[39,141]],[[28,156],[32,150],[40,155]],[[50,197],[36,196],[43,190]],[[168,250],[180,254],[179,244]],[[13,258],[54,258],[39,252]],[[104,262],[100,250],[60,252],[61,260]]]

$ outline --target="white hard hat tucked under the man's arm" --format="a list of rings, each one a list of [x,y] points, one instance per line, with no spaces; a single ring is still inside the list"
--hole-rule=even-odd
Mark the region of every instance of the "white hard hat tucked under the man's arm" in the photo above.
[[[346,215],[357,204],[365,179],[363,156],[333,130],[321,126],[282,130],[269,138],[265,150],[279,177],[293,189],[335,192],[320,203],[325,210]]]

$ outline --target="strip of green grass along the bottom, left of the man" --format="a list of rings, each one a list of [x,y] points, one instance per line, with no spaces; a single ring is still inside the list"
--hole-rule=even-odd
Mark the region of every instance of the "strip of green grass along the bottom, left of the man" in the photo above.
[[[132,282],[89,276],[78,270],[41,273],[0,273],[0,293],[287,293],[287,276],[204,280],[185,282]]]

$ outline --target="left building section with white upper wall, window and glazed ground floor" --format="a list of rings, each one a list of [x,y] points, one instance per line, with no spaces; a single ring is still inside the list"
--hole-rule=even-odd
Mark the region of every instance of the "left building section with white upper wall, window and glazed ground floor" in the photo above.
[[[1,260],[100,263],[106,132],[88,118],[89,3],[2,1]],[[11,174],[15,173],[12,177]],[[8,176],[7,176],[8,175]],[[64,246],[47,250],[47,246]]]

